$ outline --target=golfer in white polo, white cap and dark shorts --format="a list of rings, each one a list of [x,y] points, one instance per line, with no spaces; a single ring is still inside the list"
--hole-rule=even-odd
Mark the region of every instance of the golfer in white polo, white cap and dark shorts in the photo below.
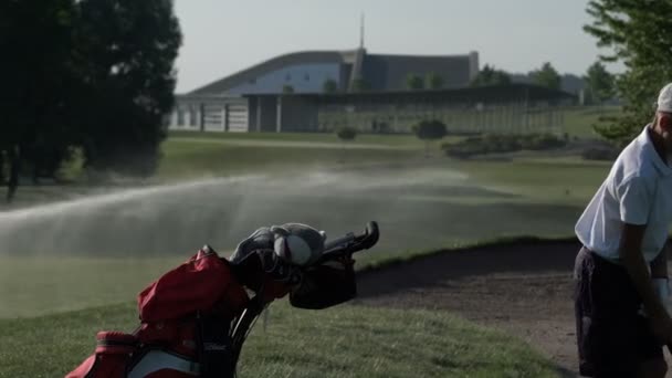
[[[672,84],[653,122],[620,154],[576,224],[575,309],[580,372],[660,377],[672,344],[668,298],[672,221]]]

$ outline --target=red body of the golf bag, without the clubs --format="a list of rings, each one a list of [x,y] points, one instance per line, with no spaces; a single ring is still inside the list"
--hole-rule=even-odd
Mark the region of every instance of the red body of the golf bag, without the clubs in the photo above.
[[[229,262],[203,248],[138,295],[135,333],[98,333],[95,354],[66,377],[207,377],[206,369],[227,369],[229,325],[248,301]]]

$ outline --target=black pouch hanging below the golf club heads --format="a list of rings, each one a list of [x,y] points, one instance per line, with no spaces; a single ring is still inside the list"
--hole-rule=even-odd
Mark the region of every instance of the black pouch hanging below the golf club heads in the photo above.
[[[332,261],[309,267],[301,284],[290,293],[294,307],[323,309],[357,296],[354,261]]]

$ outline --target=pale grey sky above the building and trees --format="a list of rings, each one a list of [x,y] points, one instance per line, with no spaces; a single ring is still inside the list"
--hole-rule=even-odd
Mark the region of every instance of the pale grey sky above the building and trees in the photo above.
[[[481,66],[526,73],[550,62],[584,74],[600,50],[582,31],[588,0],[175,0],[183,41],[178,93],[274,56],[359,45],[369,53],[477,51]],[[603,53],[603,51],[602,51]],[[618,66],[611,66],[619,71]]]

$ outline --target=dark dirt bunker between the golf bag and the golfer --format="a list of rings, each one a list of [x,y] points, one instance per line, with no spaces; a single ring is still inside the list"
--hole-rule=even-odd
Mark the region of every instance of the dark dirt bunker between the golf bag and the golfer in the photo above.
[[[577,376],[576,242],[475,248],[360,274],[357,303],[447,309],[523,338]]]

